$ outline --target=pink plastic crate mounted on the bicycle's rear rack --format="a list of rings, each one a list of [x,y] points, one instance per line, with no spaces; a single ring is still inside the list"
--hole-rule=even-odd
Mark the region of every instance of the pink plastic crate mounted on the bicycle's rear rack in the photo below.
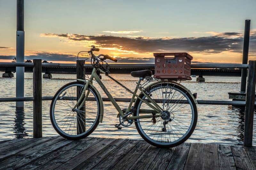
[[[154,53],[154,78],[170,80],[191,80],[191,60],[188,53]]]

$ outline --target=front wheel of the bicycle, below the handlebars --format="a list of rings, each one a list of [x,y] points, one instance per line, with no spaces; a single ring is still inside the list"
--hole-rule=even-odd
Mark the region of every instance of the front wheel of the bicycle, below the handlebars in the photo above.
[[[83,107],[75,111],[72,108],[84,89],[83,82],[71,82],[60,88],[52,99],[50,118],[53,128],[67,139],[82,139],[90,135],[98,126],[100,102],[97,93],[89,85],[89,91]]]

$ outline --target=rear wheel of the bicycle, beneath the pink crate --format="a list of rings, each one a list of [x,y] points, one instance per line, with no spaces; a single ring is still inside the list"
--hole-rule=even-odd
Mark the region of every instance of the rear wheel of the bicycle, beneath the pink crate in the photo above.
[[[155,120],[152,118],[135,120],[140,136],[156,147],[170,148],[185,142],[193,133],[197,122],[196,104],[188,95],[188,91],[169,82],[149,86],[146,90],[162,108],[162,115]],[[147,100],[143,94],[140,97]],[[135,103],[135,108],[137,108],[137,116],[149,114],[145,113],[149,108],[148,105],[141,100]]]

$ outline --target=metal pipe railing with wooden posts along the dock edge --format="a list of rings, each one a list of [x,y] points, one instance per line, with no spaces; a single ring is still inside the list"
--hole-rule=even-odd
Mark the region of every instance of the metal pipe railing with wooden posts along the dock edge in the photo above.
[[[35,60],[36,61],[36,60]],[[41,63],[41,60],[38,60],[37,63]],[[81,61],[79,61],[81,62]],[[61,64],[61,63],[42,63],[39,64],[40,67],[76,67],[77,64]],[[34,77],[35,72],[38,72],[41,70],[40,68],[36,68],[34,63],[0,63],[0,66],[15,66],[15,67],[34,67],[33,69],[33,84],[36,83],[36,81],[42,81],[41,77],[37,78]],[[91,64],[84,64],[84,68],[92,68]],[[38,67],[38,66],[37,66]],[[154,64],[109,64],[110,68],[133,68],[133,67],[139,67],[139,68],[154,68]],[[245,129],[244,129],[244,145],[245,146],[252,146],[252,126],[253,126],[253,109],[256,103],[254,102],[255,98],[255,70],[256,70],[256,61],[249,61],[249,64],[192,64],[191,68],[228,68],[228,69],[248,69],[248,75],[251,75],[248,77],[247,82],[247,91],[251,91],[250,94],[253,95],[247,95],[246,101],[225,101],[225,100],[197,100],[198,104],[202,105],[236,105],[236,106],[245,106]],[[79,72],[80,71],[80,72]],[[39,71],[40,72],[40,71]],[[77,69],[77,75],[82,75],[84,72],[83,70]],[[41,73],[42,74],[42,73]],[[254,86],[254,89],[253,89]],[[42,87],[41,87],[42,88]],[[33,89],[33,93],[36,91],[42,91],[42,89]],[[254,93],[253,93],[254,90]],[[41,94],[42,95],[42,94]],[[52,100],[52,96],[43,96],[41,97],[42,100]],[[102,98],[103,101],[109,101],[108,98]],[[117,102],[130,102],[131,99],[129,98],[115,98]],[[42,124],[42,112],[41,115],[38,115],[38,113],[35,113],[35,110],[42,110],[42,103],[40,102],[38,104],[35,104],[35,95],[34,97],[20,97],[20,98],[0,98],[0,102],[13,102],[13,101],[34,101],[34,121],[35,119],[39,120],[39,122],[34,122],[35,124]],[[252,102],[253,101],[253,102]],[[36,108],[35,108],[36,107]],[[42,137],[42,128],[37,129],[37,132],[34,131],[34,137]]]

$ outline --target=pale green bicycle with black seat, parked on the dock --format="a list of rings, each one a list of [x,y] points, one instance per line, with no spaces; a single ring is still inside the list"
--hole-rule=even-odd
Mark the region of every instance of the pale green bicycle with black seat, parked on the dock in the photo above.
[[[62,86],[52,99],[50,118],[60,136],[72,140],[82,139],[102,122],[103,101],[100,92],[92,84],[93,80],[100,85],[118,112],[119,124],[115,125],[116,128],[131,127],[134,123],[140,136],[156,147],[174,147],[191,136],[197,122],[197,102],[186,87],[177,81],[152,78],[150,70],[140,70],[131,72],[133,77],[139,78],[135,90],[131,91],[109,76],[105,60],[117,62],[117,59],[103,54],[96,56],[93,51],[99,51],[99,48],[92,46],[88,51],[93,66],[91,77]],[[133,94],[128,108],[119,107],[100,80],[99,73]],[[146,82],[142,83],[142,80]]]

